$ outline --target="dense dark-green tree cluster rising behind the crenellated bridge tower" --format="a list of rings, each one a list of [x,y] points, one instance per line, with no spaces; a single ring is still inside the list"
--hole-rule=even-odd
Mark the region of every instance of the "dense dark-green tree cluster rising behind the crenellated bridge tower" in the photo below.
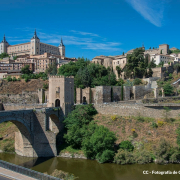
[[[77,62],[70,62],[58,69],[59,75],[74,76],[76,87],[94,87],[100,85],[115,85],[116,75],[111,68],[103,65],[90,63],[89,60],[79,58]]]

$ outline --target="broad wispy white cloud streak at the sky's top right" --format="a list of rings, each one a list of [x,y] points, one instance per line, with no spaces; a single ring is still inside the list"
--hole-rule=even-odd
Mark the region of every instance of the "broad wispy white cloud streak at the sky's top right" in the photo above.
[[[157,27],[162,26],[163,13],[167,0],[126,0],[146,20]]]

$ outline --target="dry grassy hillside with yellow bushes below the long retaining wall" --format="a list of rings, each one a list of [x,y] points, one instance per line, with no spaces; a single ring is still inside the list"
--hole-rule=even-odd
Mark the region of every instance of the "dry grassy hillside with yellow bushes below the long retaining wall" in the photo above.
[[[172,119],[165,122],[163,119],[146,117],[120,117],[114,115],[97,114],[94,120],[98,125],[107,127],[116,133],[117,144],[123,140],[132,141],[138,148],[143,146],[148,151],[153,151],[161,138],[166,139],[171,145],[177,146],[176,129],[180,119]],[[156,123],[158,127],[153,127]]]

